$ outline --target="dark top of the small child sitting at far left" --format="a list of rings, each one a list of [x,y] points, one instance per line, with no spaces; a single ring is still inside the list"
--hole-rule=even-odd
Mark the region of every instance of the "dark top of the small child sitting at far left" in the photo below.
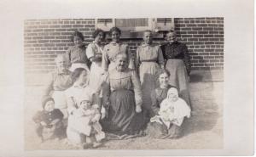
[[[44,121],[47,125],[49,125],[52,121],[56,119],[62,120],[63,114],[60,109],[54,109],[53,111],[47,112],[45,110],[38,111],[36,115],[33,116],[33,121],[36,123],[40,123]]]

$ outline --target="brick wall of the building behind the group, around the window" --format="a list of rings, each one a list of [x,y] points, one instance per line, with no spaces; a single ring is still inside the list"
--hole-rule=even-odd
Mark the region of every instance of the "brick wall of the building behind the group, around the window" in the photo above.
[[[92,19],[26,20],[24,27],[24,52],[26,73],[44,73],[55,68],[54,58],[73,46],[70,36],[79,30],[86,44],[92,42],[95,31]],[[224,19],[178,18],[175,29],[179,41],[185,42],[191,55],[192,70],[223,69]],[[131,52],[142,42],[125,40]],[[157,40],[155,42],[164,42]]]

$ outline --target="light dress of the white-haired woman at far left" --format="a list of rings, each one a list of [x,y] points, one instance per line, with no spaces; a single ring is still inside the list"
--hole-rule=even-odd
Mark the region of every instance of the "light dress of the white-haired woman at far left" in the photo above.
[[[49,73],[47,83],[44,88],[44,96],[51,96],[55,100],[55,109],[60,109],[64,115],[63,119],[67,119],[67,101],[65,90],[73,84],[71,72],[69,70]]]

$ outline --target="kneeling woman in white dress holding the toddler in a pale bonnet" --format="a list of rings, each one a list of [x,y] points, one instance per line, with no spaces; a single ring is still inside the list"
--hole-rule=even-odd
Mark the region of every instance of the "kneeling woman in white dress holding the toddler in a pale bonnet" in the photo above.
[[[73,124],[76,121],[76,116],[73,113],[78,109],[78,104],[80,98],[86,95],[92,101],[92,104],[96,104],[97,100],[97,93],[95,90],[91,89],[88,86],[88,76],[89,72],[84,70],[84,68],[77,68],[73,71],[73,86],[68,88],[66,91],[66,98],[67,98],[67,106],[68,106],[68,125],[67,125],[67,138],[73,144],[82,144],[85,142],[83,136],[81,136],[78,132],[74,131]]]

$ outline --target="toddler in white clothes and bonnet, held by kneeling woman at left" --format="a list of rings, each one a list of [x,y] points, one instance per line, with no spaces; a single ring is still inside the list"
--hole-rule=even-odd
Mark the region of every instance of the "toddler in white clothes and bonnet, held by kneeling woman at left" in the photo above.
[[[97,104],[91,105],[90,97],[83,95],[79,100],[79,109],[73,111],[73,118],[76,121],[69,123],[69,128],[73,129],[74,136],[67,134],[67,138],[74,144],[83,143],[78,141],[77,137],[85,136],[86,142],[83,143],[83,148],[89,148],[90,145],[94,148],[102,145],[101,141],[105,138],[105,133],[102,132],[102,126],[99,123],[101,114]]]

